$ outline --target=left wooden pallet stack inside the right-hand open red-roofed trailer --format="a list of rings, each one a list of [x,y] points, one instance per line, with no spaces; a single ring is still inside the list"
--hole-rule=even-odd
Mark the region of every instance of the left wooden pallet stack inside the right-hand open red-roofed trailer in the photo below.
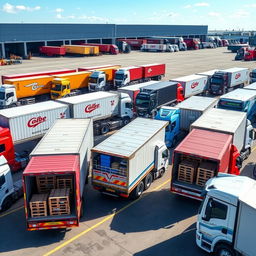
[[[187,183],[193,183],[196,176],[197,163],[184,160],[179,164],[178,180]]]

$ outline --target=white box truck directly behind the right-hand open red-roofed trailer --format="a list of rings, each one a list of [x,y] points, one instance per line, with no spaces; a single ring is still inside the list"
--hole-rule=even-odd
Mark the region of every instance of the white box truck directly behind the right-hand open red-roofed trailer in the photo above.
[[[192,129],[203,129],[232,135],[232,143],[240,152],[241,162],[251,153],[254,129],[244,112],[213,108],[191,124]]]

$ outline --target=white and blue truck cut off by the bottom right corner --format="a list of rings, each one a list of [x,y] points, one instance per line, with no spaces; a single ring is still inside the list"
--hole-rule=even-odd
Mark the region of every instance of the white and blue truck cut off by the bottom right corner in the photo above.
[[[216,256],[255,254],[256,182],[245,176],[209,180],[196,223],[196,243]]]

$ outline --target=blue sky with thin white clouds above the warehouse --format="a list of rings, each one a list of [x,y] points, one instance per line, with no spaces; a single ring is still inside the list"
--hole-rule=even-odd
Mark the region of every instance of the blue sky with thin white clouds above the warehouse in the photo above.
[[[209,25],[256,30],[256,1],[0,0],[0,23]]]

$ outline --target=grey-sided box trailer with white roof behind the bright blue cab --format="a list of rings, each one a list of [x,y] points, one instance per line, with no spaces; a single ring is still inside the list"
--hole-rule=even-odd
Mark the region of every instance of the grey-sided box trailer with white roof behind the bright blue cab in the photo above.
[[[180,110],[180,129],[189,131],[190,125],[195,120],[216,105],[216,98],[202,96],[192,96],[182,101],[176,106],[176,108]]]

